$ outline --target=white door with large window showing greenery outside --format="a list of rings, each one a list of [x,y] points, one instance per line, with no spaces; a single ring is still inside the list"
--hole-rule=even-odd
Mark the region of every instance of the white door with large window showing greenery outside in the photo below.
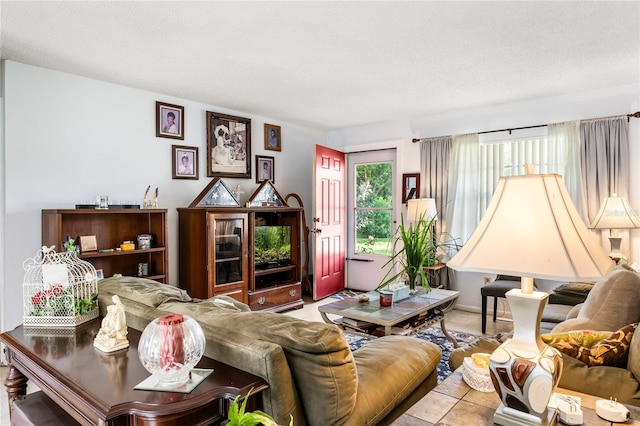
[[[392,254],[396,150],[348,154],[347,182],[347,287],[374,290]]]

